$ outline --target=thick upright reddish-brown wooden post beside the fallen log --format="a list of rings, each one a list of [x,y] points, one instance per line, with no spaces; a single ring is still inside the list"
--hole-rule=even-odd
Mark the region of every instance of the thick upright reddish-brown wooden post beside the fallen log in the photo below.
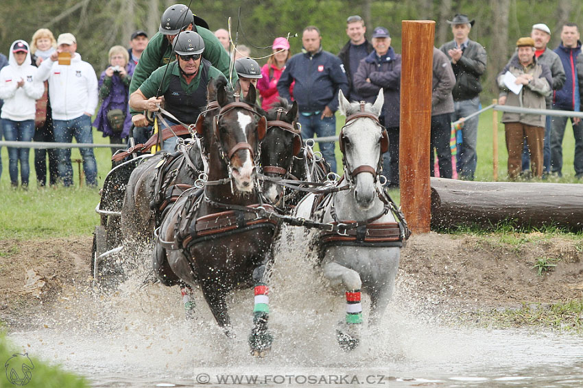
[[[436,22],[403,21],[399,174],[401,207],[414,233],[431,226],[429,144]]]

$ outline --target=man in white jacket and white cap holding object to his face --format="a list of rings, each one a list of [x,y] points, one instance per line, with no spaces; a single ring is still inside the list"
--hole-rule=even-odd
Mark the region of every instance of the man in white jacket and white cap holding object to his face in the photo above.
[[[57,50],[38,68],[37,77],[49,80],[55,142],[93,143],[91,116],[97,107],[97,76],[93,66],[81,60],[73,34],[60,34]],[[58,61],[58,62],[57,62]],[[87,185],[97,186],[93,148],[79,148]],[[71,148],[57,149],[58,172],[65,186],[73,184]]]

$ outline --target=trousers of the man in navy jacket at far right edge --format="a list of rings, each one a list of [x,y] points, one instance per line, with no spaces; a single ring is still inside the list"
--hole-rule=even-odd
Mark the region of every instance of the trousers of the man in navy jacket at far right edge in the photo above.
[[[551,118],[551,171],[562,177],[562,139],[567,126],[568,117],[554,116]],[[571,124],[573,119],[571,118]],[[583,123],[573,124],[575,137],[575,177],[583,178]]]

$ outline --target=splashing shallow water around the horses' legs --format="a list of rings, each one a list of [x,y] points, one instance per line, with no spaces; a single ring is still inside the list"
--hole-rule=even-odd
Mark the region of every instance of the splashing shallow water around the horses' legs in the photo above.
[[[143,274],[110,295],[64,289],[56,305],[8,337],[35,357],[87,376],[94,387],[583,386],[583,337],[444,326],[423,312],[411,297],[415,285],[404,278],[379,326],[365,326],[361,346],[342,352],[334,337],[344,315],[342,292],[325,287],[305,244],[279,252],[270,292],[275,341],[264,359],[248,354],[252,290],[233,294],[236,338],[228,339],[200,292],[198,317],[187,322],[179,290],[141,287]]]

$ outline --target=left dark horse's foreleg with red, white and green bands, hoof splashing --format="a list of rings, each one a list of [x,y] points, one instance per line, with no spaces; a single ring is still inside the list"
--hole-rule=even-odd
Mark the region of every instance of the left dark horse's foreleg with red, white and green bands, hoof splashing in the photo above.
[[[268,261],[267,264],[269,264]],[[267,320],[269,320],[269,287],[267,287],[267,277],[269,271],[263,264],[253,271],[254,287],[254,308],[253,308],[253,328],[249,335],[249,346],[251,354],[257,357],[265,356],[265,353],[271,349],[273,336],[267,329]]]

